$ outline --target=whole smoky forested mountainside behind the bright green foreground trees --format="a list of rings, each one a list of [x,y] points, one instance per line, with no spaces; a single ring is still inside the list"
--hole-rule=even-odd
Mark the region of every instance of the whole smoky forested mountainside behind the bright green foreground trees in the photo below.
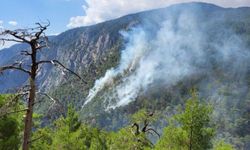
[[[16,60],[22,48],[0,51],[0,64]],[[83,122],[118,130],[142,108],[170,117],[195,88],[214,107],[217,137],[249,147],[250,8],[186,3],[132,14],[51,37],[40,57],[59,60],[88,82],[49,65],[37,81],[65,108],[73,104]],[[27,76],[8,72],[0,91],[26,82]],[[50,102],[40,99],[37,113],[45,114],[46,125],[60,116],[59,108],[48,113]],[[163,118],[155,124],[160,132]]]

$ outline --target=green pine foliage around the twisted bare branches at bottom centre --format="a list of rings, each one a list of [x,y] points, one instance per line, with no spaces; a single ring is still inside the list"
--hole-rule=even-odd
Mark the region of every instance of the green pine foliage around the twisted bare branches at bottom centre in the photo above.
[[[110,134],[109,149],[151,149],[153,144],[147,137],[146,129],[154,121],[156,117],[153,113],[147,112],[146,109],[139,110],[131,116],[130,122],[134,124],[132,127],[125,127]]]

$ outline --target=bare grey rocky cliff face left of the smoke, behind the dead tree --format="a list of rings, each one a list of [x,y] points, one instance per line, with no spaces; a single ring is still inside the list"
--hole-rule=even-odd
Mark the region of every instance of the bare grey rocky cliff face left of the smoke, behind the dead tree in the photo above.
[[[125,30],[136,21],[131,17],[113,20],[89,27],[81,27],[66,31],[50,38],[49,49],[44,49],[39,56],[41,60],[56,59],[68,68],[81,74],[93,71],[90,66],[103,63],[109,53],[118,51],[113,47],[121,40],[120,30]],[[112,27],[112,28],[110,28]],[[14,45],[0,51],[0,65],[7,65],[17,61],[27,62],[20,57],[20,51],[26,45]],[[65,74],[51,65],[44,65],[39,72],[38,86],[49,91],[63,82]],[[0,78],[0,92],[14,90],[27,81],[27,76],[21,72],[11,71]]]

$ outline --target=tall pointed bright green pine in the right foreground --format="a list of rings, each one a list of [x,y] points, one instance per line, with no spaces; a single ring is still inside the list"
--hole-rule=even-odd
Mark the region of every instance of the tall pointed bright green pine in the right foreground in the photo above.
[[[214,129],[209,127],[212,109],[207,104],[199,102],[195,91],[192,98],[187,100],[185,111],[175,116],[181,128],[187,132],[189,147],[193,150],[208,149],[212,146],[211,139]]]

